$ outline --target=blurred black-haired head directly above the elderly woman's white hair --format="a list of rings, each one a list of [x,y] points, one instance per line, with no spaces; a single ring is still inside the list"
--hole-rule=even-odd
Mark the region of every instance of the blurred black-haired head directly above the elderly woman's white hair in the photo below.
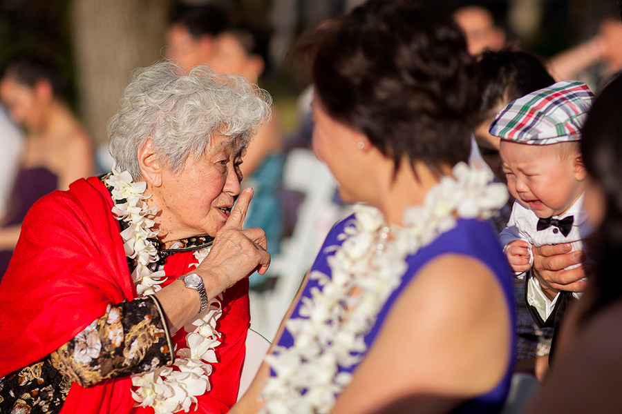
[[[165,33],[166,56],[186,72],[209,64],[216,50],[216,36],[229,27],[227,14],[216,6],[177,6]]]

